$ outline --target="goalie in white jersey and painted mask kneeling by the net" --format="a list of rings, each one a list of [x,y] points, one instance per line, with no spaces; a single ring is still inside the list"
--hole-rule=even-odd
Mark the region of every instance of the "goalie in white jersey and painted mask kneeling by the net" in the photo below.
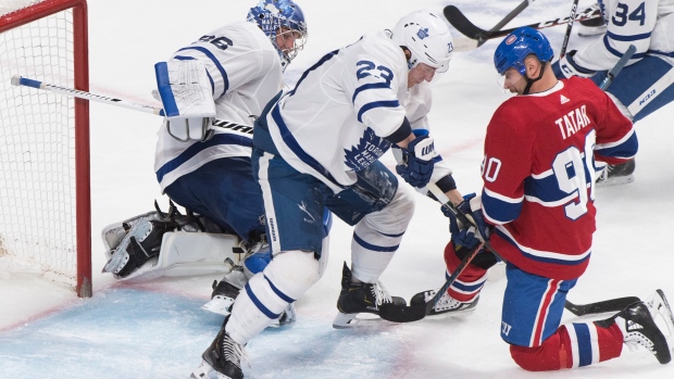
[[[172,205],[108,227],[103,271],[121,280],[212,274],[232,269],[229,258],[236,266],[207,306],[228,314],[248,278],[272,260],[251,169],[253,121],[283,88],[284,70],[305,39],[295,2],[264,0],[247,22],[213,30],[155,65],[166,119],[154,170],[162,192],[189,212]],[[327,247],[329,215],[317,225]],[[278,317],[290,323],[292,315],[288,304]]]

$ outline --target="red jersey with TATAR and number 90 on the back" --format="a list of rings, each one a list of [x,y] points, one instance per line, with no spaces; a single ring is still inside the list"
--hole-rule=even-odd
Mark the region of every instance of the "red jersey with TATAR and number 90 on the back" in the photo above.
[[[589,79],[517,96],[485,139],[483,211],[491,247],[523,270],[570,280],[586,269],[595,232],[595,159],[637,152],[632,123]]]

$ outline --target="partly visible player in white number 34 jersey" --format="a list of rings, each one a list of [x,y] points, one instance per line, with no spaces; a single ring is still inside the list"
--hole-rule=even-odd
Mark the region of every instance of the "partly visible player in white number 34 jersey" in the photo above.
[[[591,77],[600,84],[629,45],[637,50],[608,88],[634,123],[674,100],[674,0],[600,0],[607,31],[585,49],[570,51],[553,64],[558,78]],[[634,180],[635,161],[608,165],[604,186]]]

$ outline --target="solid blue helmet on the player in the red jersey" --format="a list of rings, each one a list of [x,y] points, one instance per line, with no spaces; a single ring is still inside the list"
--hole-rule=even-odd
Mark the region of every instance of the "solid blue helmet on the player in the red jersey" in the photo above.
[[[554,53],[546,36],[529,26],[523,26],[509,34],[494,52],[496,71],[503,75],[510,67],[526,77],[524,59],[534,54],[540,62],[550,62]]]

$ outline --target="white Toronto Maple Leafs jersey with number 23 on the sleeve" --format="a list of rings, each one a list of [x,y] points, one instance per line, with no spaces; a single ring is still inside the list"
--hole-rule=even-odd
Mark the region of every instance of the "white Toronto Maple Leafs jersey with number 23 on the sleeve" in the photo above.
[[[384,31],[365,35],[308,68],[272,108],[270,134],[255,131],[255,144],[271,144],[271,136],[288,164],[338,192],[390,148],[384,138],[403,123],[407,81],[400,47]]]

